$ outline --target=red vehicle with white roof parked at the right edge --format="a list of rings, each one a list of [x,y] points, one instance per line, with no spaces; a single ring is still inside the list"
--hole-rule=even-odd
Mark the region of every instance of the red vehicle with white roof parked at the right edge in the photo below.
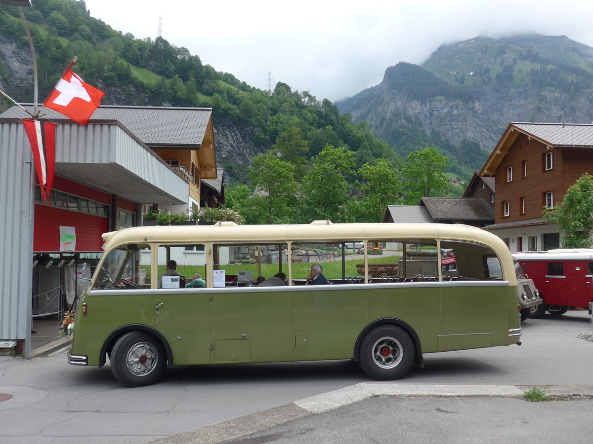
[[[569,307],[589,308],[593,301],[593,249],[558,249],[513,253],[540,291],[544,303],[530,314],[541,318],[565,314]]]

